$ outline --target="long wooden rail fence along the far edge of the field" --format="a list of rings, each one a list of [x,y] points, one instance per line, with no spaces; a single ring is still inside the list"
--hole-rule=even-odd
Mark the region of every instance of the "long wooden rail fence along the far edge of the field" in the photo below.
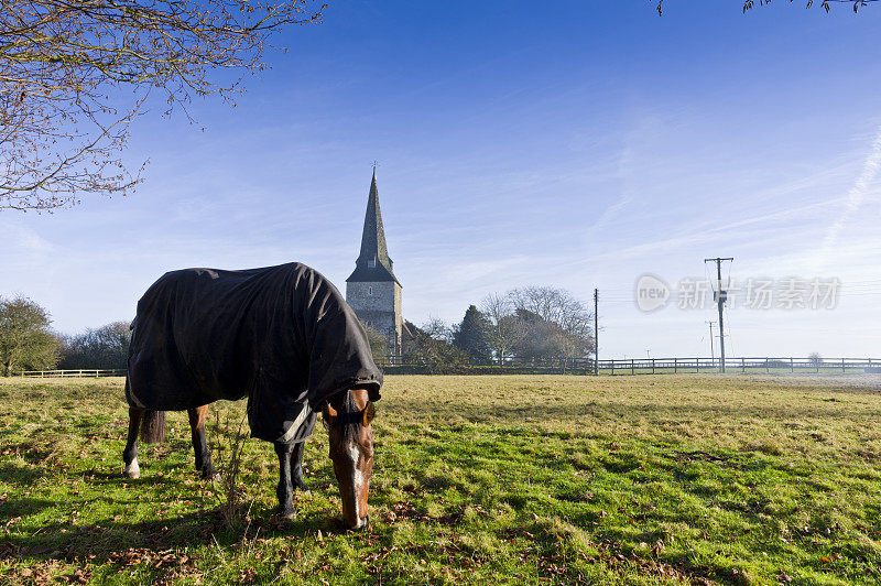
[[[425,365],[401,360],[382,360],[378,365],[388,375],[678,375],[713,373],[719,371],[718,358],[631,358],[599,360],[567,358],[544,362],[509,360],[499,363]],[[726,358],[729,373],[881,373],[881,358]],[[117,370],[25,370],[13,372],[24,378],[102,378],[124,377],[124,369]]]

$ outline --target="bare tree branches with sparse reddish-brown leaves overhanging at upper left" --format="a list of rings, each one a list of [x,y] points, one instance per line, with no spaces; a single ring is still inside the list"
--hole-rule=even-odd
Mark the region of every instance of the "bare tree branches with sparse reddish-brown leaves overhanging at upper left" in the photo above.
[[[273,32],[314,23],[312,0],[3,0],[0,209],[52,209],[127,193],[143,167],[121,151],[159,93],[166,113],[194,97],[231,101],[265,67]],[[230,83],[219,69],[236,69]]]

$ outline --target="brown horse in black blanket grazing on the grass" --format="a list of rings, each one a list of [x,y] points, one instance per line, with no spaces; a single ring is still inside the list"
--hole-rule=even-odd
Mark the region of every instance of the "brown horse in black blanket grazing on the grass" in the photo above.
[[[186,410],[196,469],[216,479],[208,405],[248,397],[251,436],[272,442],[279,457],[275,517],[290,521],[294,490],[308,490],[303,451],[320,412],[342,517],[363,529],[381,384],[363,326],[317,271],[300,263],[172,271],[148,289],[132,323],[123,475],[141,475],[139,435],[163,442],[165,412]]]

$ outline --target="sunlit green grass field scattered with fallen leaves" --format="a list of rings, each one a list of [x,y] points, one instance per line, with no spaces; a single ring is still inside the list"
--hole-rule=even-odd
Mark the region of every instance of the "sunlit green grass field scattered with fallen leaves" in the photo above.
[[[121,397],[0,379],[0,583],[881,583],[881,377],[389,377],[360,533],[320,426],[293,525],[252,440],[229,528],[185,414],[121,477]]]

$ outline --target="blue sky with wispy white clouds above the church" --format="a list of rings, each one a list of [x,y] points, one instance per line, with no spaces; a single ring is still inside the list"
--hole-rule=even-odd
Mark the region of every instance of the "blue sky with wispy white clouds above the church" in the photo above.
[[[0,211],[0,295],[75,333],[184,267],[298,260],[342,289],[377,160],[413,322],[598,287],[602,356],[705,356],[713,308],[645,314],[634,284],[724,256],[841,282],[835,310],[733,308],[729,354],[881,357],[881,7],[741,6],[331,1],[235,108],[142,117],[134,195]]]

